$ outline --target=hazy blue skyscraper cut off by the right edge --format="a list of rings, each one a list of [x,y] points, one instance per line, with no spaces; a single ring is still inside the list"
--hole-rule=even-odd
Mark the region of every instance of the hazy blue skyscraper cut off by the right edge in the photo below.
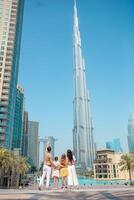
[[[128,119],[128,149],[129,153],[134,152],[134,118],[131,113]]]

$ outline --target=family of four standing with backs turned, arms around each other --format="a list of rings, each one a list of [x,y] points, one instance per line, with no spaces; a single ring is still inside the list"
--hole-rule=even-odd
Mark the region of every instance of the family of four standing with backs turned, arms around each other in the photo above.
[[[55,189],[58,189],[59,177],[61,177],[62,180],[62,188],[78,186],[75,161],[76,159],[70,149],[67,150],[67,154],[62,154],[60,160],[58,160],[58,157],[55,157],[53,161],[51,157],[51,147],[48,146],[44,156],[43,174],[40,179],[39,190],[42,189],[45,178],[46,188],[49,188],[51,172]]]

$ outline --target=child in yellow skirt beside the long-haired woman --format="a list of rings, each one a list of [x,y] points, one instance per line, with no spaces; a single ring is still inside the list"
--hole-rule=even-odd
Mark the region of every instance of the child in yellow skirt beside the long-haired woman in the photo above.
[[[60,160],[60,175],[62,178],[62,188],[66,188],[66,182],[67,182],[67,176],[68,176],[68,162],[66,159],[66,155],[62,154],[61,160]]]

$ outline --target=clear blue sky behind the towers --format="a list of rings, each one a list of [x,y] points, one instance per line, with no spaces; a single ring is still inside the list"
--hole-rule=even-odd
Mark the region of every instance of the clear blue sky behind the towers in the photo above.
[[[95,141],[115,137],[127,150],[134,111],[134,1],[78,0],[82,48]],[[29,119],[40,136],[58,139],[56,153],[72,148],[73,0],[26,0],[19,83]]]

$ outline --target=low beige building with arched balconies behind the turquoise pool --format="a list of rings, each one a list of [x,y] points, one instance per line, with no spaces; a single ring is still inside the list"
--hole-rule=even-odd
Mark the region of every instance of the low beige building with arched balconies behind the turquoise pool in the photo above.
[[[119,162],[122,153],[115,153],[113,150],[99,150],[96,152],[94,161],[94,178],[95,179],[129,179],[127,171],[121,171]],[[134,178],[134,173],[132,174]]]

